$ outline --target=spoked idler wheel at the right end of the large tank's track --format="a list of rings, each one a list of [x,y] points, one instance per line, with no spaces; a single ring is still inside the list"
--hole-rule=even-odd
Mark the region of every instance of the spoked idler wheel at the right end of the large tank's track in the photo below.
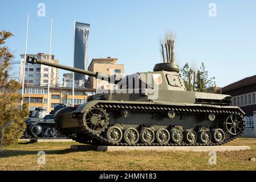
[[[224,122],[224,129],[230,135],[239,135],[243,128],[243,118],[238,114],[231,114]]]

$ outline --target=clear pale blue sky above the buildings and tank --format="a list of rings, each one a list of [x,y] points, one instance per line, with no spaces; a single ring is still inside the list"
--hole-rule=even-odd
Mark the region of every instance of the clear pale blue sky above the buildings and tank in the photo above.
[[[52,53],[60,64],[72,66],[73,20],[91,24],[88,60],[117,57],[125,73],[151,71],[160,63],[159,40],[166,31],[177,35],[176,62],[198,67],[225,86],[256,74],[256,1],[3,1],[0,30],[14,33],[7,45],[17,60],[25,50],[30,13],[28,53],[48,53],[50,16]],[[37,16],[38,3],[46,16]],[[217,16],[208,15],[216,3]],[[15,66],[18,69],[18,65]],[[60,71],[60,80],[63,73]]]

